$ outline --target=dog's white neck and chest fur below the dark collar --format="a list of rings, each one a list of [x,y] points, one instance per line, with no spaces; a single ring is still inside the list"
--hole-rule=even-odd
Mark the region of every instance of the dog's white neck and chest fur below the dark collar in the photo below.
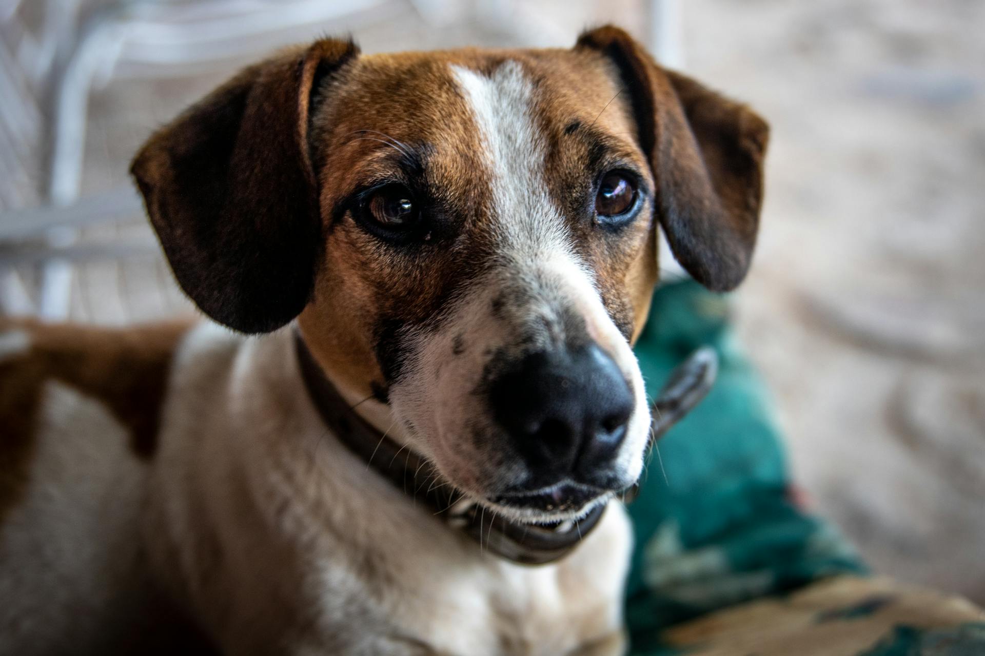
[[[621,653],[621,506],[557,565],[483,552],[326,434],[290,337],[197,329],[164,412],[155,560],[225,648]]]

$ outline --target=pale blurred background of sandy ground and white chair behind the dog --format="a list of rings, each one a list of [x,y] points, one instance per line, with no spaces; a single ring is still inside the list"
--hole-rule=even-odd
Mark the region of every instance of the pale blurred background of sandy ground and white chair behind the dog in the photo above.
[[[877,570],[985,602],[977,0],[0,0],[0,313],[188,312],[128,162],[273,48],[566,47],[610,22],[772,125],[735,316],[814,507]]]

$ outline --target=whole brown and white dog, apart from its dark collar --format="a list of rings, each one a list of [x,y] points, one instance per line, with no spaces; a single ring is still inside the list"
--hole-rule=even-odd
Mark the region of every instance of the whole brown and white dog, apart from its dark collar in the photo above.
[[[630,344],[658,226],[733,288],[766,140],[611,27],[569,50],[324,39],[241,72],[132,169],[178,282],[232,330],[0,330],[0,653],[622,653],[611,500],[647,442]],[[612,507],[557,563],[498,558],[326,427],[298,333],[484,512]]]

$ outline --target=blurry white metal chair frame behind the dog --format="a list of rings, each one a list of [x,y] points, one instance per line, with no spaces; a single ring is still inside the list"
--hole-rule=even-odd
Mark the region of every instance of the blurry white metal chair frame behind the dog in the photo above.
[[[53,84],[53,125],[46,199],[41,208],[0,214],[0,312],[31,313],[46,320],[68,317],[73,268],[82,262],[121,259],[157,252],[153,238],[83,244],[85,227],[135,220],[142,213],[131,189],[80,199],[88,105],[94,89],[110,77],[180,76],[200,73],[296,40],[297,30],[346,21],[365,24],[383,10],[388,19],[408,4],[428,23],[447,25],[458,7],[453,0],[211,0],[189,5],[129,0],[94,14],[72,39],[79,0],[47,0],[49,20],[32,61],[35,74],[58,69]],[[0,20],[13,15],[20,0],[0,4]],[[52,7],[57,4],[61,11]],[[657,59],[683,66],[681,0],[648,0],[645,20],[649,46]],[[564,34],[541,16],[534,3],[475,0],[474,11],[495,27],[529,36],[532,42],[561,40]],[[57,44],[70,43],[64,52]],[[2,71],[0,71],[2,73]],[[3,79],[0,78],[0,83]],[[28,242],[32,247],[26,247]],[[665,259],[672,262],[672,259]],[[38,300],[16,272],[24,264],[41,266]]]

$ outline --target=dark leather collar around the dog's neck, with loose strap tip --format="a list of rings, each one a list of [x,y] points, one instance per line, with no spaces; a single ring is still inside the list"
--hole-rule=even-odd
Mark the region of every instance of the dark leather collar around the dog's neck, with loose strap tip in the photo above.
[[[377,473],[440,516],[452,529],[462,531],[484,549],[508,561],[545,565],[566,556],[598,525],[606,505],[592,508],[577,522],[541,526],[483,512],[482,507],[464,498],[449,484],[435,485],[441,477],[430,463],[410,449],[398,447],[362,419],[325,377],[300,332],[294,332],[301,378],[322,421],[340,442]],[[711,388],[716,370],[715,352],[706,348],[696,351],[674,371],[654,403],[651,444],[701,400]],[[635,497],[635,490],[633,486],[627,497]]]

